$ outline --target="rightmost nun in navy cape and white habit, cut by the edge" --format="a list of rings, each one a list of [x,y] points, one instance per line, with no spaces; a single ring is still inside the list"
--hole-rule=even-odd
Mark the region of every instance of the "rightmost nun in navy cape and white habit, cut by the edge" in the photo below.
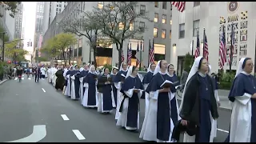
[[[230,132],[226,142],[256,142],[256,79],[251,58],[241,58],[231,86]]]

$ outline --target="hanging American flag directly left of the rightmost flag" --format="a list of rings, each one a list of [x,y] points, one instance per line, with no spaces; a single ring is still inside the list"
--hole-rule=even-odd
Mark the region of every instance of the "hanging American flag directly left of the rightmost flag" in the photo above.
[[[226,63],[226,36],[225,36],[224,26],[222,30],[222,39],[221,39],[221,45],[219,46],[218,54],[220,56],[219,66],[222,69]]]

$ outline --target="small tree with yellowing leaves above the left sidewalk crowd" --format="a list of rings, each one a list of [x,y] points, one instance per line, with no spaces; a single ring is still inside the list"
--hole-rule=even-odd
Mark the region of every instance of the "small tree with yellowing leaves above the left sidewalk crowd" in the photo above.
[[[12,58],[12,61],[23,61],[25,59],[25,55],[28,54],[28,51],[18,48],[18,43],[22,40],[14,39],[12,42],[8,42],[5,45],[5,55],[8,58]]]

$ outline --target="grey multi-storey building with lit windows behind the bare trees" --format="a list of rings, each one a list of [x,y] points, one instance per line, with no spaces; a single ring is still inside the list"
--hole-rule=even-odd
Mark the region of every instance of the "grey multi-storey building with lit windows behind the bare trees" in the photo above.
[[[56,18],[54,18],[53,22],[51,22],[48,30],[43,36],[43,42],[46,42],[47,39],[52,38],[54,36],[54,32],[57,33],[62,32],[62,28],[58,26],[58,23],[65,21],[67,18],[76,19],[82,18],[85,13],[81,11],[91,11],[94,7],[101,8],[102,6],[106,6],[107,2],[69,2],[66,6],[66,9],[63,10],[61,14],[58,14]],[[139,2],[138,7],[136,7],[136,11],[140,13],[148,12],[146,15],[152,22],[149,22],[145,19],[138,18],[138,24],[131,26],[140,26],[145,27],[146,30],[142,34],[142,38],[144,38],[143,47],[144,51],[142,52],[142,66],[148,65],[149,58],[149,46],[153,45],[154,38],[154,60],[158,61],[159,59],[164,59],[170,62],[170,35],[171,35],[171,6],[170,2]],[[81,36],[78,38],[78,44],[75,46],[71,46],[74,48],[74,51],[78,49],[78,53],[74,52],[74,59],[76,60],[76,55],[78,54],[78,62],[81,64],[82,62],[94,61],[93,57],[90,59],[90,45],[87,43],[88,40]],[[149,44],[150,40],[150,44]],[[132,64],[135,65],[136,58],[134,57],[136,54],[138,40],[137,39],[126,39],[123,44],[123,53],[125,56],[125,61],[127,59],[127,45],[131,47],[133,50],[132,54]],[[140,46],[140,42],[139,42]],[[115,44],[109,46],[108,48],[97,48],[98,54],[96,55],[96,62],[98,66],[102,66],[104,64],[110,64],[115,66],[118,63],[118,50]],[[93,53],[91,54],[93,55]]]

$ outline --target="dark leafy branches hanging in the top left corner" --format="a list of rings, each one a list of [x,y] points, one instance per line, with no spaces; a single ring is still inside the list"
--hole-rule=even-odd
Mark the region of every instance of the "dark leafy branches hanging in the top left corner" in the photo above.
[[[17,6],[21,2],[0,2],[0,6],[4,7],[5,10],[10,10],[10,16],[14,18],[15,14],[18,12]],[[0,17],[3,17],[3,14],[0,14]]]

